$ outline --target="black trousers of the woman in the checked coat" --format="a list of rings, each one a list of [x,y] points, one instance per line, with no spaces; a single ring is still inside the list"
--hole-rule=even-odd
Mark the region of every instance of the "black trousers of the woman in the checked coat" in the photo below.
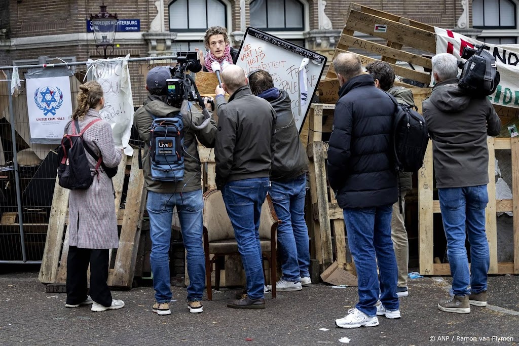
[[[97,250],[69,246],[66,259],[66,303],[79,304],[87,299],[87,269],[90,264],[90,297],[102,306],[112,305],[108,289],[108,249]]]

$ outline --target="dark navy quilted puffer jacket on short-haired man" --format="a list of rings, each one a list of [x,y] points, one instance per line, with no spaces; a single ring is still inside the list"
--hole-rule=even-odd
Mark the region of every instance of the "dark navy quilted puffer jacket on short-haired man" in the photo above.
[[[328,149],[330,185],[342,208],[393,204],[398,200],[392,163],[395,105],[373,77],[353,77],[339,90]]]

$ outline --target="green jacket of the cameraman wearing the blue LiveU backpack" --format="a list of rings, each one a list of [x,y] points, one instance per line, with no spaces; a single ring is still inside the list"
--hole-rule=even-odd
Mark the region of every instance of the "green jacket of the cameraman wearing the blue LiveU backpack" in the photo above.
[[[137,109],[133,116],[133,124],[139,131],[141,140],[144,141],[143,170],[146,189],[158,193],[175,193],[196,191],[202,188],[201,163],[198,156],[198,141],[207,148],[214,147],[216,134],[216,122],[211,116],[211,122],[202,130],[195,130],[193,124],[200,125],[203,115],[192,105],[191,112],[182,118],[184,122],[184,180],[182,182],[159,182],[152,180],[151,162],[149,160],[149,130],[153,122],[151,114],[160,118],[171,117],[179,112],[179,108],[166,103],[166,96],[149,95],[144,105]]]

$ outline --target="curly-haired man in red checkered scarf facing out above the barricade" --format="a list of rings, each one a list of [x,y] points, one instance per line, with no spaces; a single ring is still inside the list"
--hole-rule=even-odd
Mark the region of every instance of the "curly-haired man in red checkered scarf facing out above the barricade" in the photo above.
[[[217,61],[221,70],[227,65],[234,65],[238,59],[238,50],[230,46],[227,37],[227,29],[222,26],[211,26],[206,31],[204,37],[204,44],[206,45],[207,56],[204,58],[202,51],[198,51],[200,64],[203,66],[204,72],[213,72],[211,64]]]

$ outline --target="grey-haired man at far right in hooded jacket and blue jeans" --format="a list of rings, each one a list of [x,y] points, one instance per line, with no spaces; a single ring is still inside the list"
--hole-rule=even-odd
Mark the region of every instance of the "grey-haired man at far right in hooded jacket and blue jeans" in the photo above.
[[[441,299],[438,308],[446,312],[469,313],[471,305],[486,306],[490,263],[485,235],[486,141],[487,135],[499,134],[501,120],[485,96],[475,97],[458,86],[458,61],[452,54],[434,56],[432,73],[436,85],[431,97],[424,101],[423,109],[432,139],[436,186],[454,293],[448,299]],[[470,271],[466,232],[470,243]]]

